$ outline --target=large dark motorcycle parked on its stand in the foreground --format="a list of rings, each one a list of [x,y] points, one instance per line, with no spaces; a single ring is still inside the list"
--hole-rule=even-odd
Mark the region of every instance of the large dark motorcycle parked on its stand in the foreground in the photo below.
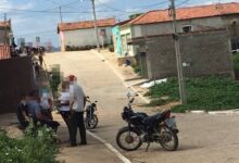
[[[128,104],[124,108],[122,118],[128,124],[122,127],[116,136],[117,146],[126,151],[134,151],[148,143],[148,151],[151,142],[160,143],[167,151],[175,151],[178,147],[178,129],[175,116],[171,111],[154,114],[152,116],[142,112],[134,112],[133,102],[138,95],[128,92]]]

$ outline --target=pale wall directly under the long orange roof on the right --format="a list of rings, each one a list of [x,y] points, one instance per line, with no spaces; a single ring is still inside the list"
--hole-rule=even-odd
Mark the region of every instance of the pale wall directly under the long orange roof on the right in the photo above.
[[[232,22],[236,22],[235,27],[232,26]],[[178,21],[178,32],[183,33],[183,26],[188,25],[192,26],[192,32],[214,28],[227,28],[229,29],[229,37],[232,43],[234,41],[238,42],[235,46],[237,46],[236,49],[239,49],[239,14]],[[172,22],[135,25],[131,28],[133,37],[143,37],[174,33]]]

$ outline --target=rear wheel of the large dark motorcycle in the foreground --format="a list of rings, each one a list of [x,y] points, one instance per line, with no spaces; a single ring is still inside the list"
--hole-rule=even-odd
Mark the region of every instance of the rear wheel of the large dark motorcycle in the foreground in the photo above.
[[[175,151],[178,147],[178,137],[169,127],[163,126],[160,133],[160,145],[166,151]]]

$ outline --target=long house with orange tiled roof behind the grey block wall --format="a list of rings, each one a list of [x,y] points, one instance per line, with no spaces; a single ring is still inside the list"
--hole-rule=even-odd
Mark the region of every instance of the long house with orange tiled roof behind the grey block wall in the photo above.
[[[189,33],[206,29],[227,28],[231,48],[239,49],[239,3],[217,3],[210,5],[180,8],[177,12],[177,30]],[[135,55],[138,46],[127,45],[127,39],[152,35],[173,34],[172,16],[168,9],[149,11],[122,25],[123,53]]]

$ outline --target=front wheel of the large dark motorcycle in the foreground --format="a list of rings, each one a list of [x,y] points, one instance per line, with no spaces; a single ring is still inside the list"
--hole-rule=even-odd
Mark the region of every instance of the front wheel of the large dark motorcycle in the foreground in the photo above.
[[[142,145],[139,135],[134,128],[123,127],[116,136],[117,146],[125,151],[135,151]]]

